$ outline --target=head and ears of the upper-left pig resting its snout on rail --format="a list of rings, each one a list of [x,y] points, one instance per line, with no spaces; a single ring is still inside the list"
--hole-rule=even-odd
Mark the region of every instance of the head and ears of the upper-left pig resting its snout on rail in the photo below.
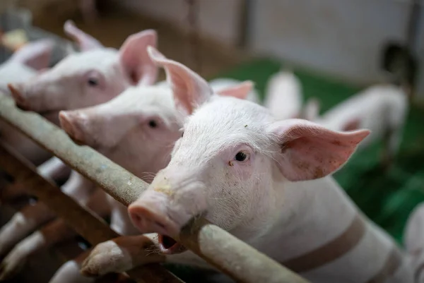
[[[155,31],[131,35],[117,51],[102,47],[71,22],[64,29],[83,52],[67,56],[28,82],[11,84],[19,107],[40,113],[90,107],[131,85],[155,82],[158,70],[145,52],[148,44],[156,44]]]

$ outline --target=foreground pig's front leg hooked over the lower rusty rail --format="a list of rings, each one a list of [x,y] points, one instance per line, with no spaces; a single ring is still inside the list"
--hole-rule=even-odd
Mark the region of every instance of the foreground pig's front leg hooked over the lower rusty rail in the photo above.
[[[158,234],[121,236],[99,243],[83,261],[81,273],[97,277],[147,263],[163,263],[166,258],[158,245]]]

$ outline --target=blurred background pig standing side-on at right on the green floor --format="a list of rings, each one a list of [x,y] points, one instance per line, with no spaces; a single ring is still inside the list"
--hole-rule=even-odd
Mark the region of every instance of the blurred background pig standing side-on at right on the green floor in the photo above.
[[[352,131],[368,128],[371,135],[360,148],[382,139],[384,150],[382,164],[389,165],[394,159],[401,142],[402,130],[408,113],[408,97],[403,88],[381,84],[354,95],[318,117],[318,102],[311,102],[310,119],[336,131]],[[315,105],[313,105],[315,104]],[[315,110],[314,110],[315,107]]]

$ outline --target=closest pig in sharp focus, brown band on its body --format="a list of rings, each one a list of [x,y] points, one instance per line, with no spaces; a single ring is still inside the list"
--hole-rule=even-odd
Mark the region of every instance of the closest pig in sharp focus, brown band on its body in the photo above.
[[[207,266],[172,239],[203,215],[311,282],[413,282],[406,254],[331,177],[370,131],[276,120],[258,104],[213,95],[204,79],[156,49],[149,54],[188,116],[169,164],[129,215],[141,233],[158,233],[153,239],[167,260]],[[143,263],[131,243],[100,243],[81,271],[99,275]]]

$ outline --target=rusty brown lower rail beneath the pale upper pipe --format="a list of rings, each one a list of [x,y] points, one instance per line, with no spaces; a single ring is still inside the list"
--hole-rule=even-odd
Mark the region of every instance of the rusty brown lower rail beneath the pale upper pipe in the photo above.
[[[109,225],[103,219],[90,212],[87,208],[81,207],[69,195],[63,193],[52,181],[37,174],[37,168],[33,164],[21,157],[11,147],[1,142],[0,167],[6,173],[18,179],[18,181],[22,181],[30,193],[36,195],[42,203],[45,203],[51,210],[56,212],[78,234],[81,234],[81,236],[93,245],[120,236],[110,229]],[[148,238],[146,238],[146,241],[148,241]],[[153,243],[151,245],[153,246]],[[155,262],[165,260],[165,257],[160,258],[158,253],[154,253],[153,257],[150,258]],[[146,261],[149,262],[148,255],[146,255]],[[136,267],[127,273],[130,277],[136,279],[137,282],[182,282],[175,275],[167,271],[165,267],[158,264]]]

